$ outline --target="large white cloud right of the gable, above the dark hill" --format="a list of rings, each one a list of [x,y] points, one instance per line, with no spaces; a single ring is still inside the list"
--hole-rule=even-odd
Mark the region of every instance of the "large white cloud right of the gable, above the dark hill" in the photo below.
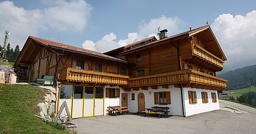
[[[212,29],[229,64],[256,60],[256,10],[244,16],[219,15]]]

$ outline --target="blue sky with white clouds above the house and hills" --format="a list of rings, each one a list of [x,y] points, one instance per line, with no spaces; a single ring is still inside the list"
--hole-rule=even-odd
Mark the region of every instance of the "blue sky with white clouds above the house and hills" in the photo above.
[[[256,1],[0,0],[4,31],[21,48],[29,35],[106,52],[156,35],[204,26],[208,21],[228,60],[226,68],[256,64]]]

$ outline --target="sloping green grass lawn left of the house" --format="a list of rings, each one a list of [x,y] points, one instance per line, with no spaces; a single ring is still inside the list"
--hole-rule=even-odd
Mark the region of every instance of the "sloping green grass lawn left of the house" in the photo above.
[[[0,84],[0,88],[1,88]],[[68,133],[33,116],[46,90],[32,85],[7,85],[0,90],[0,133]]]

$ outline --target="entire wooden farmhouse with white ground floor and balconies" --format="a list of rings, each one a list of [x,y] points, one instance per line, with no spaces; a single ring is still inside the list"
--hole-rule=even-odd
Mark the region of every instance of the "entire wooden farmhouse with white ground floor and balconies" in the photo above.
[[[105,53],[30,36],[14,66],[21,82],[54,76],[56,110],[66,101],[72,118],[108,115],[118,105],[131,113],[168,107],[179,116],[219,110],[216,94],[227,80],[216,72],[227,58],[210,26],[166,32]]]

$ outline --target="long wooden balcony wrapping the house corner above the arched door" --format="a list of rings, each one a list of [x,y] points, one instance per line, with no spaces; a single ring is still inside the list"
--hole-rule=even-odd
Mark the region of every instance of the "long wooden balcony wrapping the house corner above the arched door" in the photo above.
[[[151,76],[134,77],[128,80],[129,88],[138,88],[157,85],[172,85],[184,83],[184,87],[202,88],[209,90],[224,90],[227,80],[210,76],[195,70],[183,70],[168,72],[165,74],[155,74]],[[198,86],[196,86],[198,85]]]

